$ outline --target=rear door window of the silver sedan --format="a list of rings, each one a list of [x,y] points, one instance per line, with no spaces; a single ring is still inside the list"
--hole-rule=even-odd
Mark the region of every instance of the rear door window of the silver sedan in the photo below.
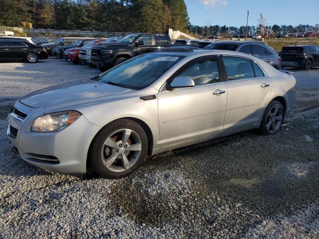
[[[224,56],[222,59],[226,68],[228,81],[255,77],[253,65],[249,59],[232,56]]]

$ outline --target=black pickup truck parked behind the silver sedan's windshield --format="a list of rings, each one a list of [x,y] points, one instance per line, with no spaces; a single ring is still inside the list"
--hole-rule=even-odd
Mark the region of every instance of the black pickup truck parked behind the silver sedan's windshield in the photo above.
[[[134,33],[124,36],[116,43],[92,47],[91,61],[92,65],[105,71],[132,57],[171,45],[170,37],[166,34]]]

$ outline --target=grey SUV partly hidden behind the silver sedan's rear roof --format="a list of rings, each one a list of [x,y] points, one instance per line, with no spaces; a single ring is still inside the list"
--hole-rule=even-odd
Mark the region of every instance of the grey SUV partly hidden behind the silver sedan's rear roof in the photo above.
[[[243,52],[256,56],[269,63],[278,70],[281,70],[281,59],[276,51],[261,41],[217,41],[203,50],[230,50]]]

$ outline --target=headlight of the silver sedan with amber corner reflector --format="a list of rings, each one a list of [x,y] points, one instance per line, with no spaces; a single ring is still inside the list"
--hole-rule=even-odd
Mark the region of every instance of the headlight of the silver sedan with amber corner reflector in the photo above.
[[[72,124],[80,116],[81,114],[75,111],[57,112],[40,116],[32,123],[31,131],[56,132]]]

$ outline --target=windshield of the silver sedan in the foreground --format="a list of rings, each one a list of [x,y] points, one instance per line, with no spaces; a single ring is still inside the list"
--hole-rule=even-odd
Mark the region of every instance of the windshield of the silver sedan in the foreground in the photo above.
[[[93,78],[96,81],[141,90],[155,82],[184,56],[144,54]]]

